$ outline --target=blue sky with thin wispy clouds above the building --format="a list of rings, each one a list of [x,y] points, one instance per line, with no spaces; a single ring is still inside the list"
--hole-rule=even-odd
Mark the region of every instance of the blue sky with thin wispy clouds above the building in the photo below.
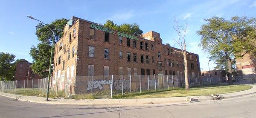
[[[76,16],[96,23],[113,20],[117,24],[137,23],[143,32],[159,32],[163,43],[177,47],[174,19],[188,23],[188,51],[199,55],[201,68],[208,70],[208,54],[198,43],[196,34],[204,19],[212,16],[256,17],[256,0],[0,0],[0,52],[16,55],[32,62],[29,50],[37,45],[37,21],[27,15],[51,23],[58,18]],[[210,69],[215,65],[210,62]]]

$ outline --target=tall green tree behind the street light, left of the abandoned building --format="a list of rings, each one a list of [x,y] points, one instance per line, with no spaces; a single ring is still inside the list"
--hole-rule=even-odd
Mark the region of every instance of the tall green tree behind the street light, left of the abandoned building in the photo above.
[[[33,58],[32,70],[33,72],[46,76],[47,74],[43,72],[49,68],[49,60],[51,54],[51,44],[52,42],[57,42],[60,37],[63,36],[63,29],[67,24],[67,19],[57,19],[50,24],[47,24],[55,32],[55,39],[52,40],[52,32],[47,26],[44,26],[42,23],[39,23],[36,26],[36,35],[40,43],[37,46],[32,46],[30,49],[30,55]]]

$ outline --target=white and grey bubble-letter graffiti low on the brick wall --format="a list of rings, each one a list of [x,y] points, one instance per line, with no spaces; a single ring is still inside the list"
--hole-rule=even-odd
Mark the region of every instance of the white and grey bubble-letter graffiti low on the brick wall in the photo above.
[[[104,88],[104,85],[109,85],[109,89],[111,89],[111,80],[99,80],[99,81],[93,81],[93,86],[92,86],[92,81],[87,81],[87,90],[90,90],[91,88],[93,89],[99,89],[102,90]],[[115,80],[113,83],[113,89],[115,90],[122,90],[122,79]],[[130,80],[128,79],[123,79],[123,89],[130,89]]]

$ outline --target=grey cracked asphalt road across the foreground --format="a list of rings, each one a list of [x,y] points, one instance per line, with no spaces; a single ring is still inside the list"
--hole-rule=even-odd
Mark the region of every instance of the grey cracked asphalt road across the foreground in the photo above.
[[[37,104],[0,96],[0,118],[256,118],[256,94],[130,107]]]

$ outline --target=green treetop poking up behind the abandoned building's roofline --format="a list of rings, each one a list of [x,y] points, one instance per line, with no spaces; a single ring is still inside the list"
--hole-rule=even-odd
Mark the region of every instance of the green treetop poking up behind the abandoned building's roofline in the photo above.
[[[107,20],[106,23],[104,23],[105,27],[108,27],[110,29],[115,29],[120,32],[126,32],[131,35],[140,35],[143,33],[143,31],[140,29],[140,26],[136,23],[128,24],[124,23],[121,25],[116,25],[113,23],[113,20]]]

